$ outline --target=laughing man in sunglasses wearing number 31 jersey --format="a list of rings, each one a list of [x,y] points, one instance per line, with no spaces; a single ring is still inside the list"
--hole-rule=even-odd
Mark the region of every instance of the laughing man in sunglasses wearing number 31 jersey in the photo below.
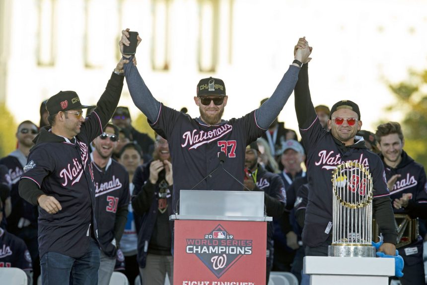
[[[95,217],[101,246],[99,285],[110,283],[128,216],[129,175],[120,163],[111,158],[118,138],[119,128],[108,123],[104,132],[93,140],[95,149],[90,154],[95,183]]]

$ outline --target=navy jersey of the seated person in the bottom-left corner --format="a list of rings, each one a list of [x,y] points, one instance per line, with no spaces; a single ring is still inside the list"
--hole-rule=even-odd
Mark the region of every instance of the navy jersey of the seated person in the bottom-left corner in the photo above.
[[[24,241],[0,228],[0,267],[33,270],[31,256]]]

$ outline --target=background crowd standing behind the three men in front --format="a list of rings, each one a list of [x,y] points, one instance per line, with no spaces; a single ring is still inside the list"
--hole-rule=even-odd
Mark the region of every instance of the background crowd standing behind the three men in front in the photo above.
[[[40,108],[42,127],[49,125],[44,111],[45,104],[46,101]],[[315,110],[322,126],[329,131],[327,128],[329,108],[319,105]],[[86,115],[90,111],[88,110]],[[140,273],[144,276],[146,284],[163,284],[166,277],[171,278],[172,284],[173,223],[168,218],[172,214],[172,207],[168,205],[172,203],[173,180],[168,142],[160,135],[155,135],[155,140],[152,140],[148,134],[132,127],[130,112],[125,106],[117,107],[111,121],[105,126],[103,134],[90,145],[97,187],[109,188],[109,183],[111,186],[117,182],[122,185],[121,188],[114,190],[117,192],[116,195],[113,191],[109,193],[109,197],[120,197],[119,202],[112,198],[110,211],[97,214],[99,231],[105,234],[105,246],[101,244],[100,272],[106,268],[100,275],[102,279],[99,282],[108,284],[112,272],[119,271],[128,277],[130,284],[134,284]],[[9,246],[13,253],[6,258],[0,257],[0,265],[4,263],[4,267],[18,267],[27,273],[31,272],[34,284],[40,275],[37,206],[21,198],[17,187],[40,126],[29,120],[21,122],[16,130],[16,150],[0,159],[2,179],[0,241]],[[399,169],[408,165],[410,167],[415,163],[402,149],[404,139],[398,123],[390,122],[378,126],[377,134],[360,130],[357,135],[363,138],[367,149],[383,159],[389,181],[388,187],[392,193],[396,192],[393,195],[397,200],[395,204],[399,205],[395,206],[396,212],[403,211],[401,203],[406,203],[405,207],[408,208],[410,204],[408,201],[411,201],[413,196],[417,196],[419,200],[423,199],[426,192],[424,190],[426,176],[424,169],[418,164],[413,167],[418,167],[416,181],[419,189],[403,196],[397,194],[400,192],[399,188],[403,186],[396,187],[396,182],[404,175]],[[394,140],[390,140],[390,137]],[[397,150],[395,145],[398,146]],[[274,146],[274,150],[271,146]],[[400,163],[402,159],[403,163]],[[267,211],[269,216],[274,217],[274,221],[268,226],[267,271],[291,272],[299,282],[301,279],[304,282],[302,260],[305,256],[305,245],[301,240],[301,234],[309,191],[305,160],[306,151],[298,142],[295,132],[286,129],[284,123],[276,119],[263,137],[248,146],[245,154],[245,170],[242,170],[246,171],[246,174],[255,172],[258,174],[246,175],[245,186],[254,190],[263,178],[268,179],[270,186],[267,189],[262,187],[256,190],[265,191],[266,195],[277,198],[284,205],[281,207],[279,204],[273,210]],[[402,166],[398,167],[399,164]],[[425,199],[427,201],[427,195]],[[266,204],[268,201],[266,199]],[[106,202],[97,196],[98,211],[108,208],[109,202],[105,204]],[[417,208],[415,203],[412,207],[417,209],[414,217],[426,216],[423,208]],[[122,223],[118,222],[120,217]],[[119,227],[119,224],[122,226]],[[102,225],[105,225],[105,228]],[[427,233],[424,220],[420,220],[420,231],[417,241],[399,250],[405,256],[405,248],[413,248],[415,244],[419,252],[410,257],[415,265],[411,264],[406,269],[409,273],[410,268],[414,267],[408,276],[419,276],[424,280],[422,237]]]

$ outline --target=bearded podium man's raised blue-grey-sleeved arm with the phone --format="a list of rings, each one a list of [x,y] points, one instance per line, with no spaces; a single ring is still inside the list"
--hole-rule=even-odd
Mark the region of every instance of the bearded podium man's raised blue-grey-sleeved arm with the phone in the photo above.
[[[134,60],[133,56],[123,54],[123,46],[129,46],[130,41],[129,29],[122,30],[122,39],[119,42],[120,52],[124,58]],[[140,44],[141,38],[138,35],[138,43]],[[135,61],[136,65],[136,61]],[[129,93],[131,94],[134,104],[142,111],[142,113],[148,118],[150,122],[155,122],[160,111],[160,102],[157,101],[148,87],[145,85],[142,77],[138,71],[138,68],[134,64],[125,64],[125,77],[126,83],[128,84]]]

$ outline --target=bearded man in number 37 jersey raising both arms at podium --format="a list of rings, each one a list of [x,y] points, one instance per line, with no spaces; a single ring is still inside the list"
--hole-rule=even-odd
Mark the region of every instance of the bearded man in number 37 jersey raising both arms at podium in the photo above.
[[[128,36],[128,30],[123,30],[122,45],[129,45]],[[141,39],[138,39],[140,42]],[[301,62],[307,61],[308,54],[308,48],[298,50],[294,56],[295,60],[290,64],[273,95],[258,109],[230,120],[222,119],[228,101],[222,80],[210,77],[199,81],[193,100],[199,108],[200,116],[192,118],[189,114],[157,101],[142,80],[138,69],[129,64],[125,65],[126,82],[132,100],[147,116],[151,127],[170,143],[174,179],[173,208],[176,208],[179,190],[192,189],[199,182],[198,190],[223,190],[224,185],[229,190],[241,190],[246,146],[262,136],[279,115],[293,91]],[[240,84],[247,84],[248,80],[251,79],[248,78]],[[257,84],[256,80],[251,84]],[[179,92],[178,89],[170,91],[174,95]],[[224,171],[217,171],[208,176],[218,167],[218,155],[221,152],[226,157],[224,169],[236,179]],[[206,176],[208,177],[204,179]]]

